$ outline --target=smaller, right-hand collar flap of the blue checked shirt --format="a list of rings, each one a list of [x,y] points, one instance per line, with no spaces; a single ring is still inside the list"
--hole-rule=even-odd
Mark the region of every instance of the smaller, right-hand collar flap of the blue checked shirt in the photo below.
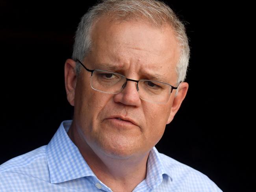
[[[147,177],[145,179],[147,185],[154,189],[163,181],[163,175],[166,174],[173,181],[169,168],[162,162],[160,153],[154,147],[149,153],[147,161]]]

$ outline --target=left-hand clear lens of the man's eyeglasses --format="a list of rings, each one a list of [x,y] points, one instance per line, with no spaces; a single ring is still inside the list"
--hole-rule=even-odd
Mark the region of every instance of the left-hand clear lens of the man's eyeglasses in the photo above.
[[[91,79],[91,87],[95,90],[106,93],[119,93],[126,78],[104,70],[95,70]]]

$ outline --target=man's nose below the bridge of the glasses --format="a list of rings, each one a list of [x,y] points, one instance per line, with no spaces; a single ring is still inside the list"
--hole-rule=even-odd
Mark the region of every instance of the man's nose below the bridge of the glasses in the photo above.
[[[137,83],[126,81],[122,86],[122,91],[114,95],[114,102],[132,106],[141,105],[141,99],[139,97],[139,92],[137,91]]]

